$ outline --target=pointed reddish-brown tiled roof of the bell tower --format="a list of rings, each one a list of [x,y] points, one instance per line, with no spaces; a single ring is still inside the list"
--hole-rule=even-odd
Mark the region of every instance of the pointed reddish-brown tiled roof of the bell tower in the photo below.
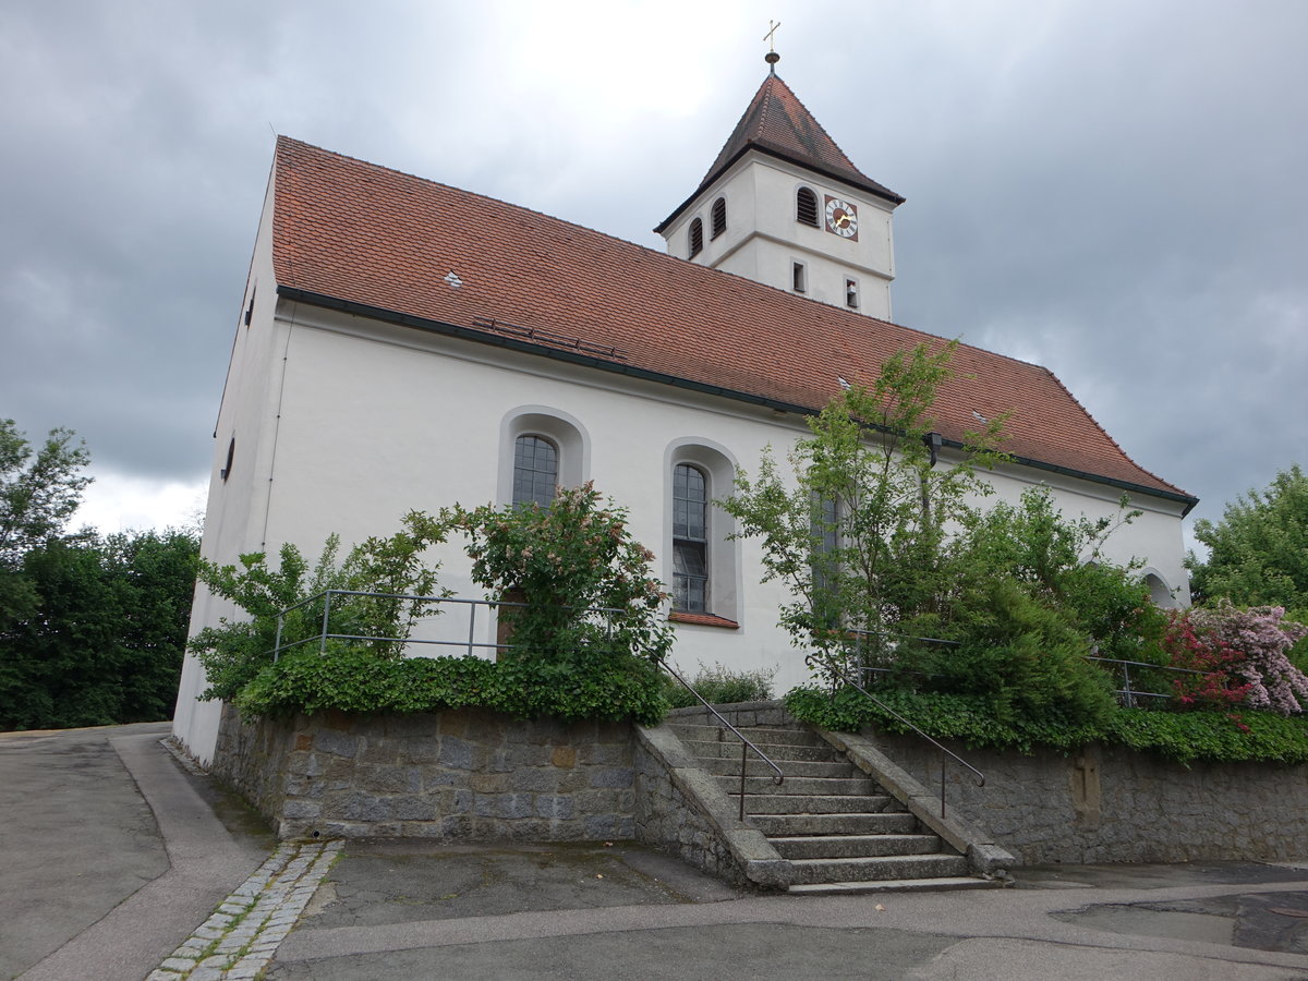
[[[781,76],[769,71],[695,194],[654,230],[667,228],[705,187],[751,149],[853,184],[892,204],[904,203],[904,198],[855,167]]]

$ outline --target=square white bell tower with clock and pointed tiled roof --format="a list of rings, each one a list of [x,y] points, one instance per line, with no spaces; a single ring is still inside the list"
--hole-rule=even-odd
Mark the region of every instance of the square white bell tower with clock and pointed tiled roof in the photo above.
[[[755,93],[698,188],[654,230],[670,255],[882,319],[904,199],[849,160],[777,75]]]

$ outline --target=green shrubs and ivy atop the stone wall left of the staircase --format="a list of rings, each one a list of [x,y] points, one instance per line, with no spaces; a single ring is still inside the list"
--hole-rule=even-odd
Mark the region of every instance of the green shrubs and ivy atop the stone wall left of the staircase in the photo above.
[[[277,569],[262,553],[242,556],[241,569],[207,564],[209,589],[251,619],[224,620],[195,638],[209,679],[204,697],[234,701],[251,715],[481,708],[519,718],[657,722],[667,710],[657,666],[671,644],[659,615],[664,594],[650,576],[653,555],[627,532],[625,513],[599,501],[587,484],[560,492],[549,508],[413,511],[399,534],[369,539],[339,565],[331,536],[313,570],[293,545],[283,547]],[[334,596],[327,633],[386,640],[319,641],[324,608],[314,600],[285,617],[285,653],[272,662],[279,612],[326,589],[447,595],[436,594],[436,569],[421,552],[451,530],[468,535],[475,582],[526,603],[501,612],[513,637],[497,662],[403,658],[415,621],[438,610],[433,600],[371,595]],[[285,649],[301,640],[310,642]]]

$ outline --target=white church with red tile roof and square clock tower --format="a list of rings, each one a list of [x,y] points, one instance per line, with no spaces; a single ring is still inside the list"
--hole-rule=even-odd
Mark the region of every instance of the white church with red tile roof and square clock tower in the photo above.
[[[412,509],[547,501],[593,480],[657,555],[676,663],[776,668],[778,692],[807,680],[777,627],[785,587],[760,582],[757,543],[731,540],[713,501],[765,447],[783,458],[844,383],[940,343],[889,319],[903,203],[774,69],[658,225],[666,255],[280,137],[203,555],[228,564],[290,542],[315,557],[328,534],[388,535]],[[977,416],[1011,412],[997,497],[1046,484],[1065,514],[1097,518],[1126,493],[1143,517],[1109,557],[1139,557],[1156,602],[1186,602],[1181,519],[1196,498],[1131,460],[1046,369],[968,345],[954,364],[935,407],[942,455]],[[443,586],[481,598],[458,547],[441,559]],[[222,616],[239,613],[201,587],[192,632]],[[456,616],[441,629],[467,637]],[[493,644],[492,623],[471,629]],[[196,701],[204,688],[188,657],[174,730],[208,761],[220,706]]]

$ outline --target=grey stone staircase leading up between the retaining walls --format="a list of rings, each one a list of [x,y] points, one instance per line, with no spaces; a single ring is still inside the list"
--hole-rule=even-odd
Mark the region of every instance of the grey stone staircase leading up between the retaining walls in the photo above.
[[[723,726],[674,723],[681,744],[714,774],[735,804],[740,740]],[[967,859],[922,827],[871,777],[800,725],[740,731],[785,773],[753,752],[746,763],[746,820],[794,870],[790,892],[985,888]]]

